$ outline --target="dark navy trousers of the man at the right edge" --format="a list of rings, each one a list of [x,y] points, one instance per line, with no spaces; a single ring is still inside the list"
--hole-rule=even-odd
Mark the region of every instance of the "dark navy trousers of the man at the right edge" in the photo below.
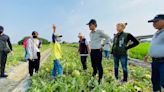
[[[154,61],[151,66],[153,91],[160,91],[162,87],[164,88],[164,60]]]

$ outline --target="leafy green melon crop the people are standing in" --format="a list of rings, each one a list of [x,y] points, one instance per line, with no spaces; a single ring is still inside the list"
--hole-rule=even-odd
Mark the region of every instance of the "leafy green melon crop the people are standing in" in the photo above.
[[[51,78],[53,57],[41,67],[39,74],[34,75],[29,92],[151,92],[150,71],[129,65],[129,82],[121,83],[115,80],[113,60],[103,59],[104,78],[98,85],[97,77],[91,79],[92,67],[88,58],[88,71],[83,71],[77,48],[62,46],[63,58],[61,60],[64,75],[57,80]],[[80,75],[72,76],[74,70],[80,71]],[[119,80],[122,78],[120,69]]]

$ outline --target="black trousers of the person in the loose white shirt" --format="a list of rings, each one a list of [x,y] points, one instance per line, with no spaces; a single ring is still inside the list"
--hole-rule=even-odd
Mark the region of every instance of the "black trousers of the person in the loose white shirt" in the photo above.
[[[40,52],[37,53],[38,59],[29,60],[29,74],[33,76],[33,72],[37,73],[40,67]]]

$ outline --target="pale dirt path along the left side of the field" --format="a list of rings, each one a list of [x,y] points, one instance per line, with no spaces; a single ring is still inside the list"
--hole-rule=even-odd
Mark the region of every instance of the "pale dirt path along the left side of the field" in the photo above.
[[[49,57],[50,49],[45,50],[41,55],[41,63],[43,63]],[[8,78],[0,79],[0,92],[25,92],[25,89],[22,89],[20,85],[23,82],[26,84],[25,86],[23,84],[24,88],[28,86],[28,63],[21,62],[18,66],[14,67],[8,75]]]

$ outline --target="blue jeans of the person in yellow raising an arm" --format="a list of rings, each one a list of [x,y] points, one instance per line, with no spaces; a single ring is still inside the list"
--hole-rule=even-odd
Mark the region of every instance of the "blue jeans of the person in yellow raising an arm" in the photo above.
[[[54,67],[52,69],[52,76],[54,78],[56,78],[56,73],[58,73],[59,76],[62,76],[62,74],[63,74],[62,65],[61,65],[59,59],[54,60]]]

